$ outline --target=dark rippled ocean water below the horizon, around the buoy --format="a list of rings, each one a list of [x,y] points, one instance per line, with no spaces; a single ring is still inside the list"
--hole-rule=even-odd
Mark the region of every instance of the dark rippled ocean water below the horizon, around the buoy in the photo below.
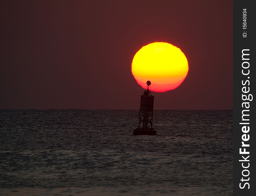
[[[0,195],[232,195],[233,111],[0,110]]]

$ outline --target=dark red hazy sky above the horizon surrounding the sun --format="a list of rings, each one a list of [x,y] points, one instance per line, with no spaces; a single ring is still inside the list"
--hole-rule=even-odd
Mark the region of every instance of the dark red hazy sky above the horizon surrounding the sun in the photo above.
[[[139,109],[135,53],[169,42],[189,63],[155,109],[232,109],[232,1],[1,1],[0,108]]]

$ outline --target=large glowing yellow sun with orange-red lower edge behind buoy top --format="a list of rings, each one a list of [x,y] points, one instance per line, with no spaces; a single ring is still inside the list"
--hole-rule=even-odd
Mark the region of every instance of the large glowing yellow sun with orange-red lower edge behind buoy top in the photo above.
[[[132,61],[132,74],[145,88],[150,80],[151,90],[165,92],[176,89],[188,73],[188,61],[180,48],[166,42],[154,42],[143,46]]]

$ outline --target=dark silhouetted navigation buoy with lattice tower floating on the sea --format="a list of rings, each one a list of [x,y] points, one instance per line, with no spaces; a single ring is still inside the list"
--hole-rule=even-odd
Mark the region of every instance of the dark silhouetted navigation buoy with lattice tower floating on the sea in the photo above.
[[[147,81],[147,89],[140,96],[139,108],[139,125],[133,130],[133,135],[157,135],[157,131],[153,128],[153,107],[154,96],[152,96],[151,82]],[[150,88],[150,89],[149,89]]]

